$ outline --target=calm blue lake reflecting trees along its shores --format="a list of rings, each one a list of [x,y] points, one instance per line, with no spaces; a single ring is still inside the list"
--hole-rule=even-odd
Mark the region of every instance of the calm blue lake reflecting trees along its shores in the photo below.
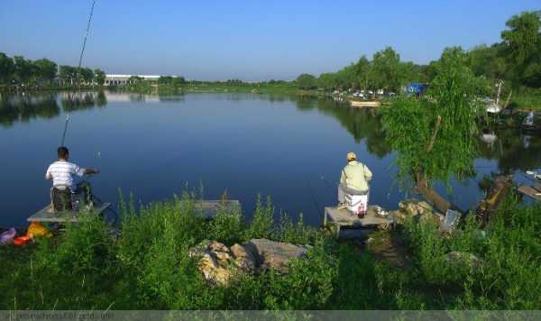
[[[146,204],[203,187],[205,198],[239,199],[246,216],[258,194],[276,212],[319,225],[336,203],[345,154],[355,151],[373,172],[371,204],[397,208],[404,197],[380,117],[316,98],[251,94],[142,95],[60,92],[1,96],[2,226],[50,202],[45,170],[68,111],[70,161],[102,172],[96,196],[116,202],[119,188]],[[483,197],[491,174],[541,167],[541,139],[518,132],[480,135],[475,175],[453,180],[449,198],[462,209]],[[517,181],[526,181],[515,175]],[[444,184],[436,189],[446,193]]]

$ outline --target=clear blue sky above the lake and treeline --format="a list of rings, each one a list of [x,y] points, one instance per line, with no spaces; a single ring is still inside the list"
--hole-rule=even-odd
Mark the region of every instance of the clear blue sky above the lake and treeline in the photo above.
[[[1,0],[0,52],[76,65],[92,0]],[[392,46],[426,63],[500,41],[516,1],[97,0],[84,64],[107,73],[290,79]]]

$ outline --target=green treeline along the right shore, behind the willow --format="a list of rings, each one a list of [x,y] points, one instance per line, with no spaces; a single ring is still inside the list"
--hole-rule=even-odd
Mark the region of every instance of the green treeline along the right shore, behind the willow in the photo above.
[[[484,78],[487,85],[503,80],[507,91],[536,94],[541,105],[541,11],[513,15],[506,26],[500,33],[500,42],[490,46],[481,44],[471,50],[451,47],[445,51],[459,51],[474,75]],[[409,82],[431,84],[440,65],[441,58],[426,65],[401,61],[399,53],[387,47],[376,52],[371,60],[362,56],[336,72],[325,72],[318,77],[301,74],[297,84],[303,89],[384,89],[398,94]]]

